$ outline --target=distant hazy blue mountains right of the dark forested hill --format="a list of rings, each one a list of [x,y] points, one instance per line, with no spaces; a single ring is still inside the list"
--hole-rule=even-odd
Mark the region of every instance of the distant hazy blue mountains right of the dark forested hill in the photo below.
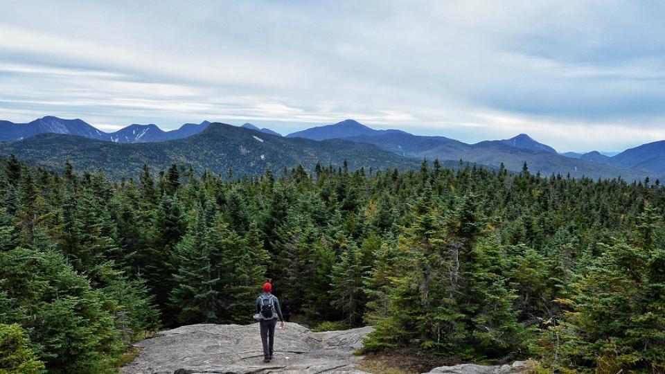
[[[418,136],[401,130],[373,130],[357,121],[346,120],[335,125],[312,127],[301,132],[294,132],[287,137],[301,136],[308,139],[344,139],[348,141],[370,143],[382,150],[387,150],[404,157],[416,159],[459,160],[499,167],[502,163],[508,170],[522,170],[526,162],[533,172],[542,175],[558,173],[572,177],[612,178],[636,180],[650,177],[652,180],[665,174],[665,142],[650,147],[649,152],[629,150],[614,157],[607,157],[599,152],[568,157],[558,154],[554,148],[535,141],[527,134],[519,134],[511,139],[499,141],[481,141],[468,144],[445,136]],[[654,144],[654,143],[653,143]],[[643,145],[641,147],[644,147]],[[640,147],[635,150],[641,149]],[[651,154],[647,157],[646,154]],[[662,158],[654,157],[662,154]],[[644,161],[644,162],[639,162]]]

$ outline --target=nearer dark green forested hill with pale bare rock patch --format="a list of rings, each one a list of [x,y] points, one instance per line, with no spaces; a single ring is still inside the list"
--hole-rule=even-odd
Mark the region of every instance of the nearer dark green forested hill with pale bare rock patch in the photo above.
[[[69,161],[76,170],[103,170],[116,179],[136,177],[143,163],[154,169],[168,168],[171,163],[185,164],[197,173],[211,170],[225,174],[232,168],[236,175],[258,175],[268,169],[281,171],[299,164],[314,170],[317,162],[337,168],[344,160],[351,170],[363,166],[403,169],[418,165],[418,160],[368,144],[339,139],[290,139],[222,123],[211,123],[199,134],[164,143],[123,144],[68,134],[39,134],[0,143],[0,155],[10,154],[56,170]]]

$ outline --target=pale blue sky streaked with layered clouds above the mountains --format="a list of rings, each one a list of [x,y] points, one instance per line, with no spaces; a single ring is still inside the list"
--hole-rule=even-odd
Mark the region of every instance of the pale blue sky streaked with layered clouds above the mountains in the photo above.
[[[665,139],[662,1],[0,0],[0,119]]]

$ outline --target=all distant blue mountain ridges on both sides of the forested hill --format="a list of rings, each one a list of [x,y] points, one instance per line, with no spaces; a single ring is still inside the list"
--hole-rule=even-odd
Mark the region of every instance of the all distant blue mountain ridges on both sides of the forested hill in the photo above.
[[[208,121],[199,124],[185,123],[177,130],[165,132],[154,124],[133,124],[116,132],[106,133],[80,119],[45,116],[30,123],[0,121],[0,141],[18,141],[37,134],[53,133],[83,136],[88,139],[115,143],[152,143],[193,136],[205,130],[208,125]],[[266,128],[259,129],[251,123],[245,123],[242,127],[281,136]],[[467,144],[445,136],[418,136],[394,129],[374,130],[353,119],[332,125],[312,127],[288,134],[286,137],[315,141],[345,139],[356,143],[371,143],[382,150],[399,154],[402,157],[438,158],[441,161],[464,159],[495,167],[504,163],[511,170],[520,170],[521,164],[526,162],[533,170],[569,172],[573,176],[592,175],[608,167],[616,170],[605,170],[601,175],[608,173],[621,175],[621,170],[665,173],[665,141],[640,145],[613,157],[595,151],[585,154],[574,152],[558,154],[549,145],[539,143],[527,134],[519,134],[511,139]],[[554,168],[552,165],[558,165],[558,167]],[[598,170],[593,170],[594,168]]]

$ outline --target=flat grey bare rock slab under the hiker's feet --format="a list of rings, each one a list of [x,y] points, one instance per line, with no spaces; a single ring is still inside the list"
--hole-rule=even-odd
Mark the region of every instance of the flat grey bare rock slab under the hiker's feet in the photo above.
[[[264,364],[258,323],[182,326],[136,343],[141,354],[121,373],[363,373],[353,351],[370,331],[311,332],[286,323],[284,330],[275,330],[274,357]]]

